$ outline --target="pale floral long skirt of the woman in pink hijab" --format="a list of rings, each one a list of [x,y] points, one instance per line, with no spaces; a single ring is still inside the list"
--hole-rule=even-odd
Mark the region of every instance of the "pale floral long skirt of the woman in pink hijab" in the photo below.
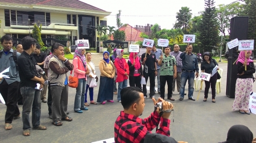
[[[235,101],[233,110],[248,110],[250,93],[253,91],[252,78],[238,78],[236,83]]]

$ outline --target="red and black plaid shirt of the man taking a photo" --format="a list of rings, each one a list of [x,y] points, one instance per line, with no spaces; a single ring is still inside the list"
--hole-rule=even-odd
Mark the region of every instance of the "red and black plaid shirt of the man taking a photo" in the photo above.
[[[146,134],[150,134],[156,127],[158,118],[159,115],[156,111],[145,119],[121,111],[114,126],[115,143],[144,143]],[[169,119],[161,118],[160,128],[156,133],[170,136],[170,122]]]

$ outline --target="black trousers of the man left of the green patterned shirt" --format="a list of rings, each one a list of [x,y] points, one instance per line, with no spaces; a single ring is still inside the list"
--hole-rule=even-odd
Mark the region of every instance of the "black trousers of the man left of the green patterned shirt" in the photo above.
[[[146,83],[147,83],[147,80],[148,80],[148,77],[149,77],[149,80],[150,80],[150,90],[149,90],[149,97],[152,97],[154,95],[154,88],[155,88],[155,73],[143,73],[144,77],[145,77],[145,80],[146,80]],[[146,95],[146,84],[143,84],[143,94],[144,96],[147,97]]]

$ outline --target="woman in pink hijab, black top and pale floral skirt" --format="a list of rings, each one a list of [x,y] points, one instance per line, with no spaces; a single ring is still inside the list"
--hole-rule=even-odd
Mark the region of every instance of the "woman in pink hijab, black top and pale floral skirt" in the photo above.
[[[236,82],[235,101],[232,109],[239,110],[241,114],[250,115],[249,98],[250,92],[253,91],[253,74],[255,73],[255,66],[253,60],[250,59],[252,51],[241,51],[238,56],[238,79]],[[245,56],[246,55],[246,56]],[[247,61],[245,60],[247,59]],[[245,70],[247,67],[247,70]]]

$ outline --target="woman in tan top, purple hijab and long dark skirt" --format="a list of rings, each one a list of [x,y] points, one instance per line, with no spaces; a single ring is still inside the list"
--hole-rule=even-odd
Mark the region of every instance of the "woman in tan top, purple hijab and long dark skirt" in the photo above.
[[[105,101],[113,101],[113,78],[116,73],[116,68],[113,62],[109,59],[110,53],[108,51],[103,52],[103,59],[101,59],[99,68],[101,72],[100,87],[98,93],[97,102],[106,104]]]

